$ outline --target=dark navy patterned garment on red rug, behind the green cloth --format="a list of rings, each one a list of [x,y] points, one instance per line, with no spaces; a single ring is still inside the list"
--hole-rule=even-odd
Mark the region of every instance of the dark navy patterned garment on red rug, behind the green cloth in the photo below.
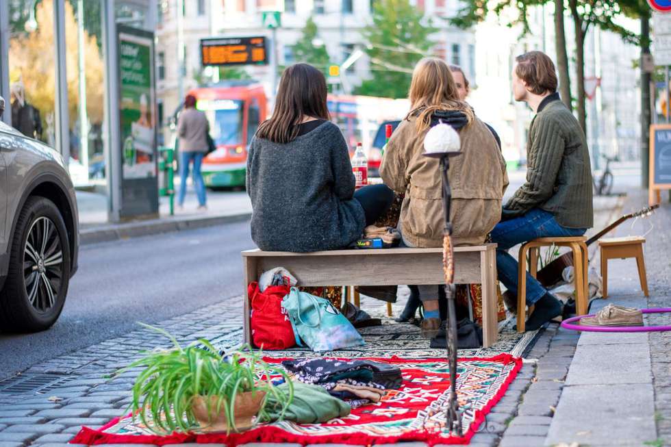
[[[400,368],[375,361],[313,358],[283,361],[282,366],[304,383],[353,379],[378,383],[386,389],[396,389],[402,380]]]

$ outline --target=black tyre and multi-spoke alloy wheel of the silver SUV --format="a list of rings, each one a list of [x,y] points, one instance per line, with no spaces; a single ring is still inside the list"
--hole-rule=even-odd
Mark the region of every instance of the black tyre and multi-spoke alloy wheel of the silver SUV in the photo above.
[[[3,328],[35,332],[58,319],[70,281],[70,245],[58,207],[29,197],[12,235],[10,266],[0,294]]]

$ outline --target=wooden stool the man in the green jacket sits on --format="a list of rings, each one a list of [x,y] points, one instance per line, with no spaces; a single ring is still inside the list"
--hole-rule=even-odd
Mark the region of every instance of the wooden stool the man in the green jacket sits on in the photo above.
[[[527,320],[527,252],[529,252],[529,274],[536,277],[538,269],[538,252],[542,246],[566,246],[573,251],[575,267],[575,301],[579,315],[587,314],[587,244],[585,236],[570,238],[538,238],[522,244],[520,248],[520,267],[518,268],[517,285],[517,330],[524,332]]]

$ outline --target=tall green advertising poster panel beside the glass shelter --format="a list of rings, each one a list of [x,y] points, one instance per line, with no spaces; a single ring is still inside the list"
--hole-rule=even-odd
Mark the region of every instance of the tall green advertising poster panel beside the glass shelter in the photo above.
[[[117,25],[121,217],[158,213],[154,36]]]

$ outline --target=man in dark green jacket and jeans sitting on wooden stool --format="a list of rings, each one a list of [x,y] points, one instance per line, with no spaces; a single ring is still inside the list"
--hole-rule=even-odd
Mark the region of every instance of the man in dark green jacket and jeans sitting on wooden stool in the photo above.
[[[516,58],[513,94],[535,112],[527,140],[527,181],[503,206],[492,231],[498,279],[517,294],[518,263],[509,248],[536,238],[583,235],[593,225],[592,169],[585,133],[559,99],[555,64],[540,51]],[[562,305],[527,274],[527,331],[561,315]]]

